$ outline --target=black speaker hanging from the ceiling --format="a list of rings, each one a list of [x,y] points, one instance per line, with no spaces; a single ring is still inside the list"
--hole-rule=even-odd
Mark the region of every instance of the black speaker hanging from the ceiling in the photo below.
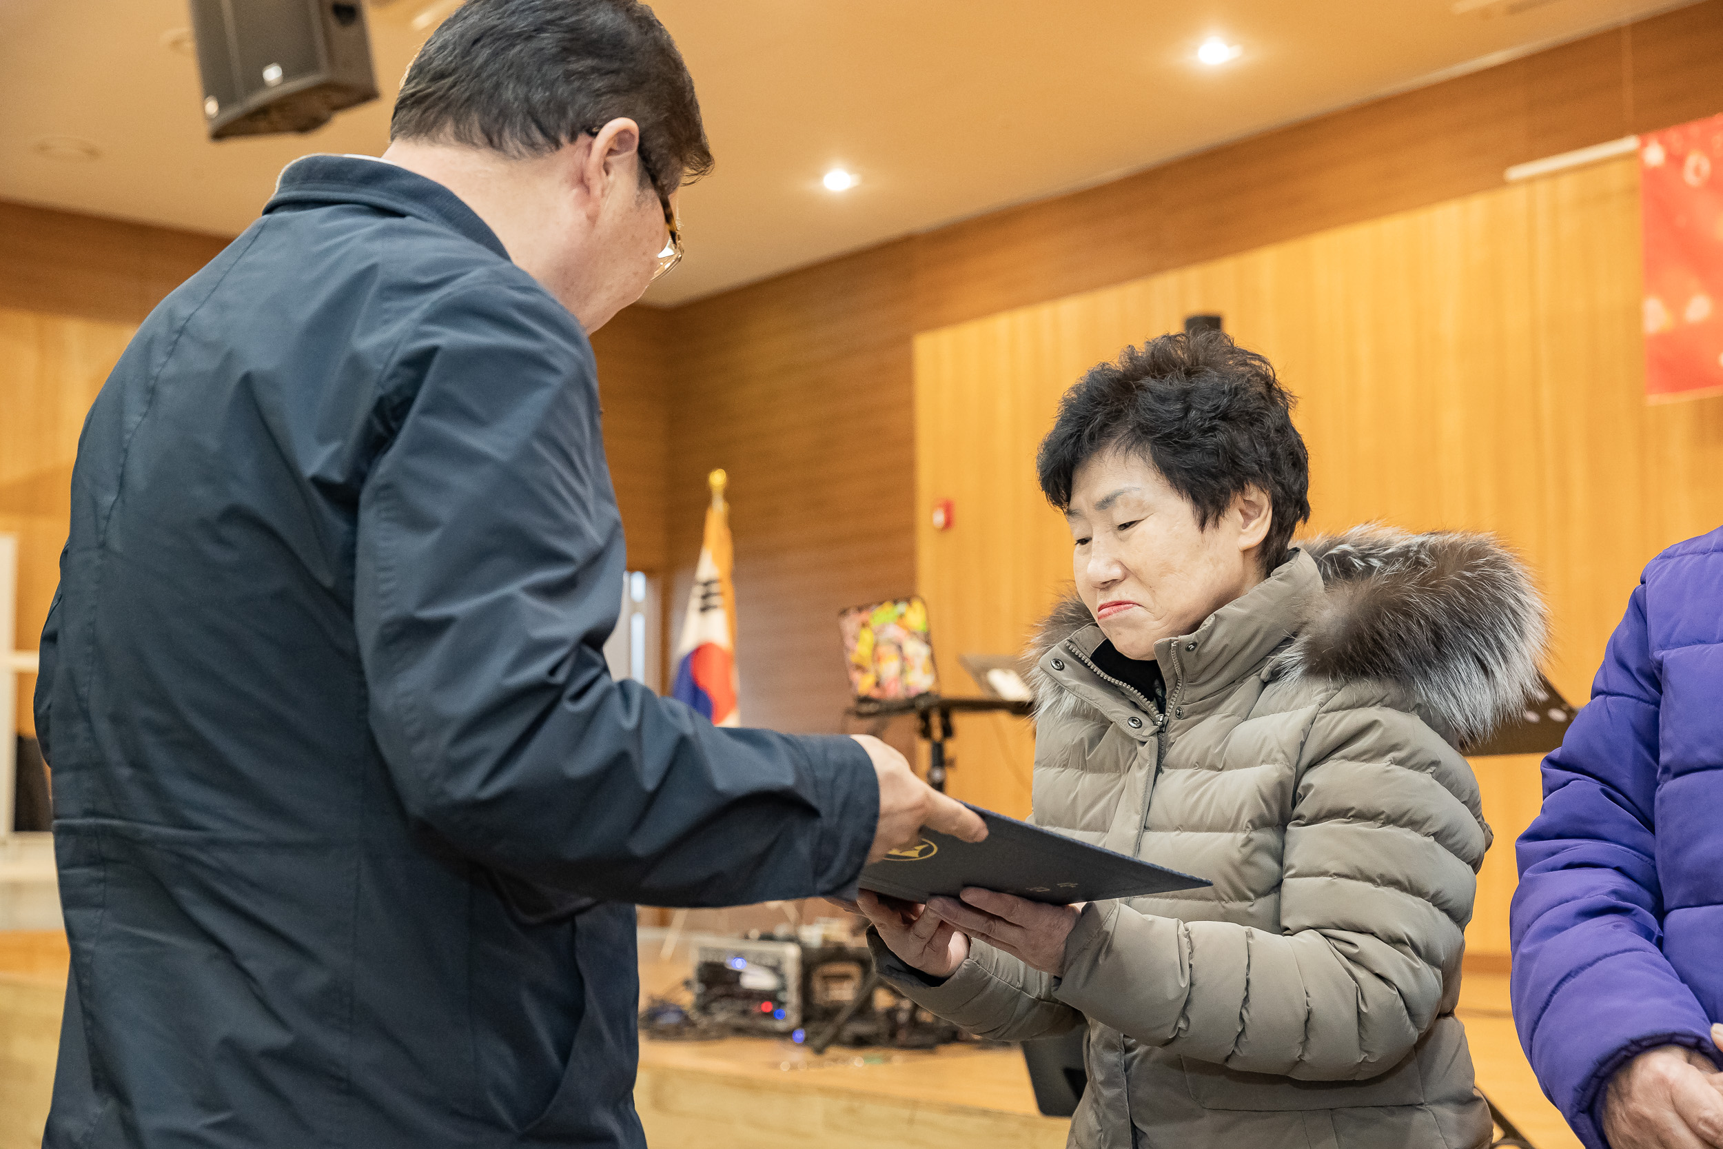
[[[191,0],[210,140],[312,131],[377,98],[358,0]]]

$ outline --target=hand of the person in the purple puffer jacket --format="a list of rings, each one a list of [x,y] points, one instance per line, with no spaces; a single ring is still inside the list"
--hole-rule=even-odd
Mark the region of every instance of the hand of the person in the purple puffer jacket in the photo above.
[[[1647,1049],[1609,1078],[1604,1137],[1611,1149],[1723,1147],[1723,1073],[1685,1046]]]

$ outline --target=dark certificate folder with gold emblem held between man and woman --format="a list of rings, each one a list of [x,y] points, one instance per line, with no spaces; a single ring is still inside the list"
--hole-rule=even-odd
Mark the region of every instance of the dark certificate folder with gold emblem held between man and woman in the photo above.
[[[915,846],[894,849],[862,870],[862,889],[905,901],[956,897],[980,889],[1067,906],[1073,901],[1142,897],[1210,885],[1206,879],[1139,861],[1017,818],[970,806],[987,822],[987,841],[961,842],[922,830]]]

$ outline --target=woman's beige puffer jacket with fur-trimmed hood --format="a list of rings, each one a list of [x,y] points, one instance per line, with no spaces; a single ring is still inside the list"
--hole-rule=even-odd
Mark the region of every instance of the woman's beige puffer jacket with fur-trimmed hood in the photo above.
[[[887,980],[998,1039],[1087,1022],[1084,1149],[1485,1146],[1454,1018],[1490,844],[1456,744],[1518,713],[1544,613],[1485,536],[1316,539],[1156,644],[1166,708],[1103,675],[1080,601],[1044,624],[1034,820],[1213,880],[1094,903],[1061,978],[986,944]]]

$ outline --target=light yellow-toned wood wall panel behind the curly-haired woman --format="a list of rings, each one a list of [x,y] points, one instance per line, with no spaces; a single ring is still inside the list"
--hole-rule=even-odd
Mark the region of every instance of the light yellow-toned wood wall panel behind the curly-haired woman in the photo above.
[[[1590,694],[1644,563],[1723,522],[1723,400],[1647,405],[1628,157],[1354,224],[915,341],[918,586],[942,649],[1010,653],[1070,581],[1030,460],[1058,396],[1127,343],[1222,312],[1299,396],[1311,531],[1490,531],[1549,599],[1549,674]],[[1025,748],[963,796],[1022,791]],[[1535,760],[1480,765],[1501,849],[1473,947],[1506,951]],[[1027,794],[1023,794],[1023,806]]]

